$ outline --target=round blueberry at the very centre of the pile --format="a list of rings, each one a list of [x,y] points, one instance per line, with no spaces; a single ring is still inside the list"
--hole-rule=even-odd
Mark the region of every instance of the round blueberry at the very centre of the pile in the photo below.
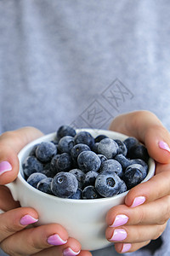
[[[101,160],[93,151],[82,151],[82,153],[78,155],[77,164],[83,172],[98,172]]]

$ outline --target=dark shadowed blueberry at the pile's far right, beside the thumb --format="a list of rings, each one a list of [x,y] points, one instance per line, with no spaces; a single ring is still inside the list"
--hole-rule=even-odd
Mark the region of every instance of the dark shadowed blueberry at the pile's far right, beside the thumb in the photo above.
[[[134,145],[130,150],[128,151],[128,157],[130,159],[141,159],[144,160],[146,163],[149,160],[149,154],[147,151],[147,148],[144,147],[142,144]]]

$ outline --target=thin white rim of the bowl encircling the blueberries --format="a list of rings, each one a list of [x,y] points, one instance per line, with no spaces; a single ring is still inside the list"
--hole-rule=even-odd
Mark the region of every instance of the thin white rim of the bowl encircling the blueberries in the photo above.
[[[95,132],[97,131],[96,135],[99,135],[103,133],[107,133],[107,134],[111,134],[111,136],[115,135],[117,137],[124,137],[127,138],[129,136],[121,133],[121,132],[117,132],[117,131],[107,131],[107,130],[101,130],[101,129],[89,129],[89,128],[83,128],[83,129],[76,129],[77,132],[79,131],[88,131],[88,132]],[[18,158],[19,158],[19,162],[20,162],[20,170],[19,170],[19,173],[18,173],[18,176],[16,177],[14,183],[16,183],[17,181],[20,181],[21,183],[23,183],[27,189],[30,189],[32,190],[33,192],[37,193],[37,195],[41,195],[43,197],[48,197],[48,199],[50,198],[50,200],[54,200],[54,201],[61,201],[61,202],[66,202],[66,203],[75,203],[75,204],[91,204],[91,203],[103,203],[103,202],[108,202],[108,201],[114,201],[114,200],[118,200],[120,198],[124,198],[125,195],[127,195],[127,193],[130,191],[127,190],[119,195],[113,195],[111,197],[102,197],[102,198],[97,198],[97,199],[83,199],[83,200],[76,200],[76,199],[70,199],[70,198],[61,198],[61,197],[58,197],[56,195],[48,195],[34,187],[32,187],[29,183],[26,182],[26,179],[22,176],[21,172],[22,172],[22,161],[23,161],[23,155],[27,152],[27,151],[31,151],[31,148],[36,145],[37,143],[42,143],[42,142],[45,142],[45,141],[50,141],[50,140],[53,140],[54,137],[56,136],[56,132],[51,132],[51,133],[48,133],[47,135],[44,135],[42,137],[39,137],[37,138],[36,140],[32,141],[31,143],[28,143],[26,144],[26,146],[24,148],[22,148],[18,154]],[[108,136],[109,137],[109,136]],[[29,153],[28,153],[29,154]],[[28,156],[28,154],[26,154]],[[144,183],[146,181],[148,181],[151,177],[154,176],[155,174],[155,167],[156,167],[156,164],[155,164],[155,160],[153,160],[152,158],[149,159],[149,162],[148,162],[149,166],[150,166],[150,172],[148,172],[147,176],[144,178],[144,180],[141,182],[141,183]]]

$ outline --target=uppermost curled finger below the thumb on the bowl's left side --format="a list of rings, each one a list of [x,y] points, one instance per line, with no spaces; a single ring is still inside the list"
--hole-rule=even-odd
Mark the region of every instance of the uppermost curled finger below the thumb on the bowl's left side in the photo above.
[[[29,215],[29,216],[28,216]],[[37,221],[37,212],[28,207],[16,208],[0,214],[0,242]],[[23,222],[24,221],[24,222]],[[26,224],[27,221],[27,224]]]

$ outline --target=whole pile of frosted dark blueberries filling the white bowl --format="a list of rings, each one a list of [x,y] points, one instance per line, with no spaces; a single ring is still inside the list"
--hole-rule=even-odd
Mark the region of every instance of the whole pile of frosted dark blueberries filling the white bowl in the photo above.
[[[23,162],[26,181],[49,195],[70,199],[111,197],[132,189],[148,173],[149,154],[134,137],[93,137],[62,125],[52,142],[31,149]]]

